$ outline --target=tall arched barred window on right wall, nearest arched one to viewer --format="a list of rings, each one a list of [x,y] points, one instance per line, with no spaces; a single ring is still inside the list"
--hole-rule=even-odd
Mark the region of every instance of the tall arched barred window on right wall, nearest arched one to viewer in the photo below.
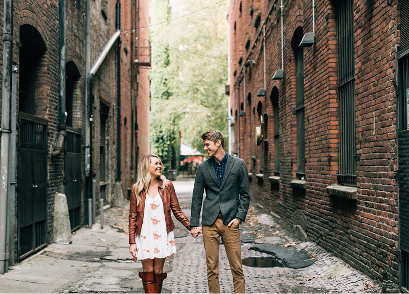
[[[298,27],[291,40],[296,57],[297,178],[305,177],[304,50],[298,47],[302,37],[303,28]]]

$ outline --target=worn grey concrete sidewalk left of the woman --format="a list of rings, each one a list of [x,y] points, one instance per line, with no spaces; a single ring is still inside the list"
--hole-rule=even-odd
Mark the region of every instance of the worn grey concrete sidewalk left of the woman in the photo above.
[[[117,209],[110,209],[106,216]],[[109,220],[108,220],[109,222]],[[137,273],[140,262],[131,262],[128,236],[96,223],[81,228],[71,244],[50,244],[36,255],[0,276],[2,293],[143,293]]]

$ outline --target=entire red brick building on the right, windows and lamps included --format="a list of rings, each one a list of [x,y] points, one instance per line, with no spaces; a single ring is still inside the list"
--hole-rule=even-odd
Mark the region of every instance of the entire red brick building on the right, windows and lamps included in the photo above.
[[[402,291],[408,16],[398,0],[229,1],[231,148],[252,200]]]

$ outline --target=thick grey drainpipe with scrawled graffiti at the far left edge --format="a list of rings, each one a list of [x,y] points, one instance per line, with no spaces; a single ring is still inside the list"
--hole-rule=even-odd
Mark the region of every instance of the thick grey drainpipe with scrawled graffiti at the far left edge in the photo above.
[[[9,147],[10,147],[10,102],[13,55],[13,1],[3,2],[3,91],[2,91],[2,137],[0,139],[0,274],[7,272],[8,247],[8,204],[9,199]],[[14,146],[15,147],[15,146]],[[14,160],[14,159],[13,159]]]

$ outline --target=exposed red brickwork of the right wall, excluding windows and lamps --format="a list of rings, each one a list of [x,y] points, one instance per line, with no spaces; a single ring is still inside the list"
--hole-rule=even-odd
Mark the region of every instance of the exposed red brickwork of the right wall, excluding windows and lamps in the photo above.
[[[241,12],[240,12],[241,6]],[[398,278],[398,207],[396,148],[395,45],[399,44],[398,2],[354,2],[355,121],[358,161],[358,199],[330,195],[337,184],[339,115],[337,95],[336,11],[332,1],[315,3],[316,43],[304,48],[305,189],[294,188],[297,171],[296,60],[291,39],[297,28],[312,32],[310,1],[289,0],[283,9],[284,79],[272,80],[281,69],[279,1],[230,1],[230,99],[235,117],[236,154],[248,168],[251,197],[266,211],[289,224],[302,219],[308,237],[363,273],[380,279],[386,269]],[[253,15],[250,12],[253,7]],[[260,24],[255,27],[257,16]],[[236,32],[234,24],[236,22]],[[264,88],[263,23],[266,43]],[[248,49],[245,44],[249,40]],[[241,64],[239,59],[242,58]],[[246,67],[245,93],[243,64]],[[253,63],[254,61],[254,63]],[[279,96],[280,179],[274,176],[274,110],[271,92]],[[245,116],[239,117],[245,97]],[[249,99],[250,98],[250,99]],[[250,103],[249,103],[250,101]],[[259,104],[261,103],[261,104]],[[263,169],[260,146],[255,144],[258,106],[266,114]],[[375,135],[373,135],[375,112]],[[240,146],[240,150],[237,149]],[[256,176],[256,174],[258,176]]]

